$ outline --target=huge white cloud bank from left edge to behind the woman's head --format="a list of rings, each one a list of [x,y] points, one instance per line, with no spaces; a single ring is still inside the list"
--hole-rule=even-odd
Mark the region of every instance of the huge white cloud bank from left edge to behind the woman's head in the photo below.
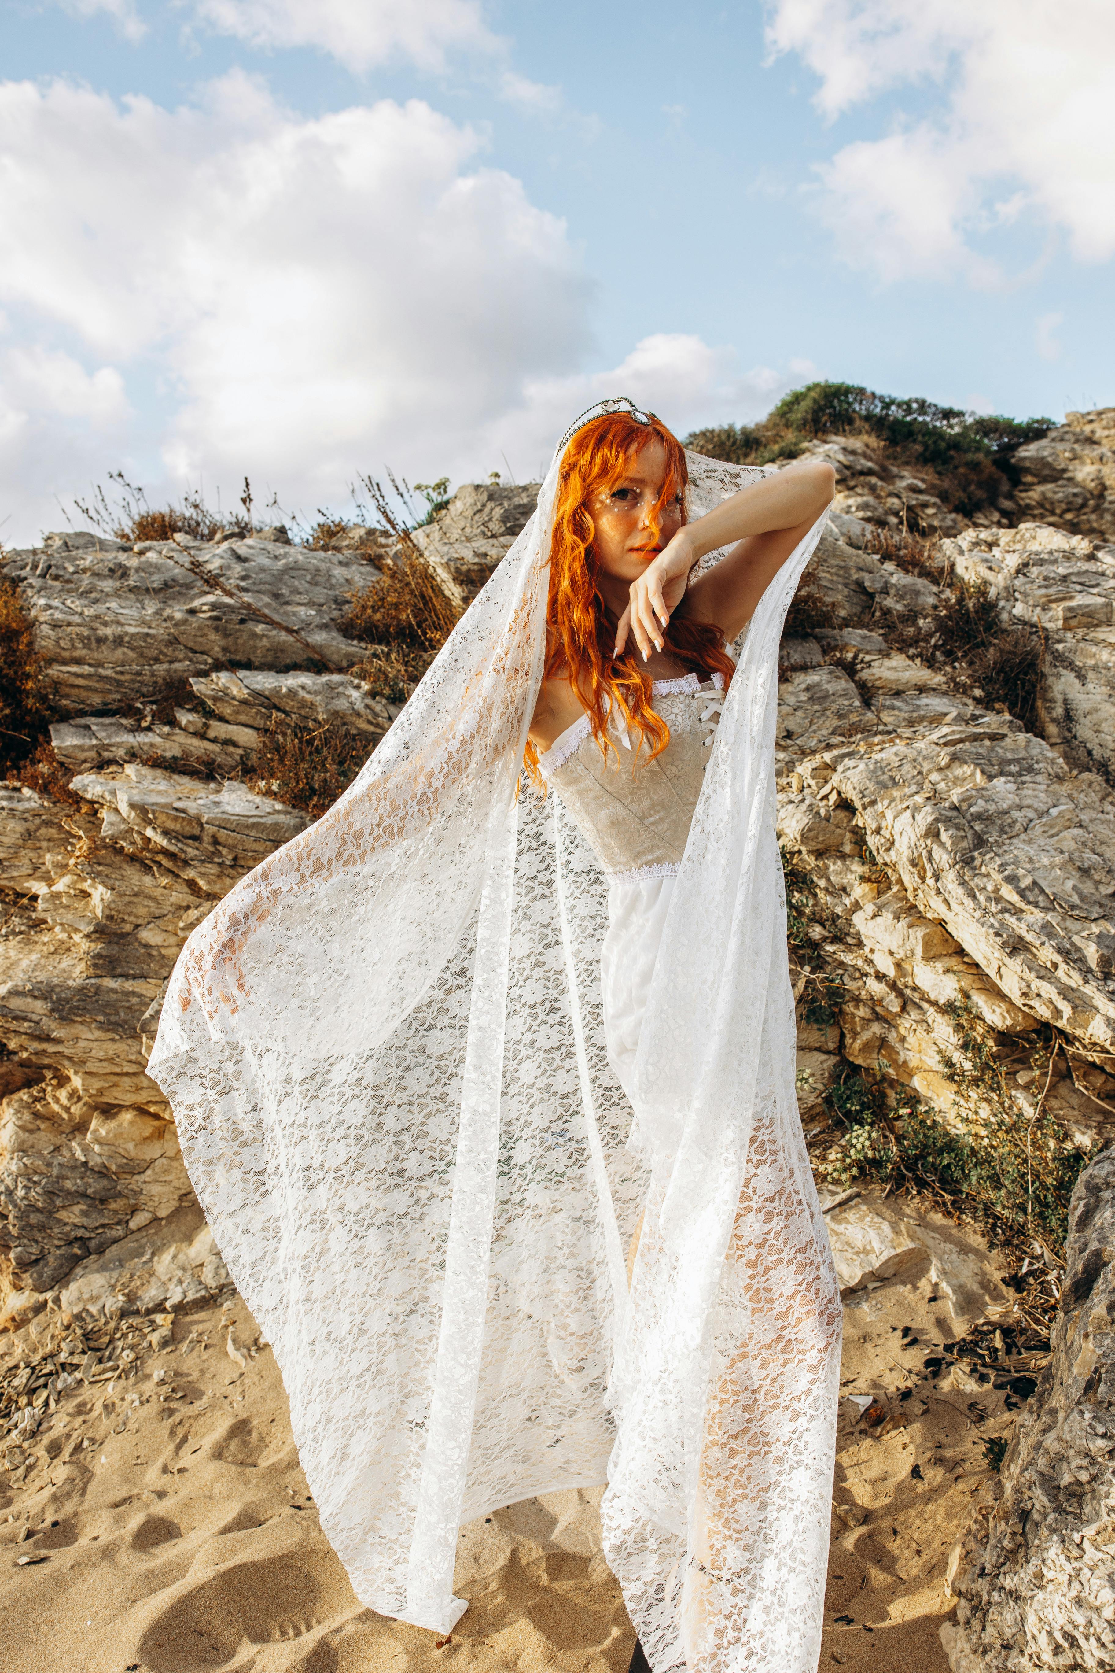
[[[313,515],[386,463],[532,475],[598,395],[684,430],[811,371],[657,335],[578,373],[565,224],[421,100],[311,119],[239,72],[177,110],[5,84],[0,204],[5,540],[114,467],[152,497],[247,473]]]

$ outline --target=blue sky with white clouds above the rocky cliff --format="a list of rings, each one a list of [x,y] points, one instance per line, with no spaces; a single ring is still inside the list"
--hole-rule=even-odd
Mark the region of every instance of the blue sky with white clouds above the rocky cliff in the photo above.
[[[0,539],[811,376],[1115,403],[1107,0],[8,0]],[[617,381],[619,380],[619,381]]]

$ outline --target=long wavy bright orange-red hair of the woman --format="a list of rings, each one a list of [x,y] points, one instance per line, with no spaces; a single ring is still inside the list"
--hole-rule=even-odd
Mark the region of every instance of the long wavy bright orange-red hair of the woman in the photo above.
[[[627,413],[607,413],[583,425],[565,448],[553,507],[543,679],[572,683],[603,755],[615,748],[607,733],[610,711],[637,733],[635,748],[642,739],[650,741],[652,758],[670,741],[669,726],[650,706],[654,681],[639,664],[634,636],[629,636],[622,656],[614,654],[619,622],[600,594],[602,570],[592,547],[595,527],[588,514],[588,497],[600,489],[617,489],[632,460],[654,440],[662,442],[667,460],[665,480],[650,515],[657,540],[669,502],[680,494],[684,505],[689,467],[682,443],[654,413],[650,423],[639,423]],[[727,689],[736,664],[724,647],[724,634],[712,622],[692,621],[687,604],[689,596],[670,616],[664,649],[702,679],[722,674]],[[540,781],[538,750],[530,739],[527,771]]]

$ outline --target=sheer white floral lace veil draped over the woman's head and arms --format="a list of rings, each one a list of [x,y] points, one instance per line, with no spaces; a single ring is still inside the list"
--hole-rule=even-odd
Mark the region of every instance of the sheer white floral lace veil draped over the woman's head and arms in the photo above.
[[[194,930],[150,1074],[364,1604],[448,1633],[461,1522],[607,1479],[654,1673],[812,1673],[839,1307],[794,1092],[774,709],[824,519],[731,683],[632,1133],[607,882],[522,776],[558,465],[351,788]],[[690,517],[762,475],[689,470]]]

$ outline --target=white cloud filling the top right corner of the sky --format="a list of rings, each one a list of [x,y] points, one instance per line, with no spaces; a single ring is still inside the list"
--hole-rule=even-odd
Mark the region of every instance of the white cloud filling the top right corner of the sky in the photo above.
[[[889,89],[941,87],[931,115],[821,167],[821,214],[853,266],[1000,283],[980,238],[1021,217],[1078,261],[1115,254],[1110,0],[772,0],[767,42],[816,72],[831,120]]]

